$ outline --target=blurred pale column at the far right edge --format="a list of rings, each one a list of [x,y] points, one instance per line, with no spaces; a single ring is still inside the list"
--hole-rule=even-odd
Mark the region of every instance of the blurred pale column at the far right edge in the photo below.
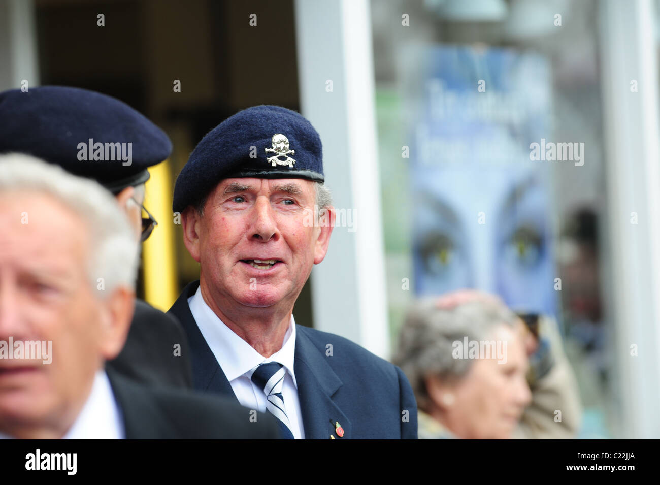
[[[651,0],[601,4],[608,314],[620,437],[660,436],[658,63]],[[631,90],[631,82],[637,92]],[[632,84],[634,88],[634,83]],[[594,162],[598,162],[594,160]],[[588,162],[587,162],[588,163]],[[634,224],[634,217],[638,218]],[[636,346],[637,356],[631,355]],[[633,352],[634,353],[634,352]],[[616,416],[614,416],[616,418]]]

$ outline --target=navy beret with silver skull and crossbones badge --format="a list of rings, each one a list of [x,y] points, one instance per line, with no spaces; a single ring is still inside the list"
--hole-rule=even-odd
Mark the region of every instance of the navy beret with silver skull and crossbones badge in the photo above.
[[[312,123],[281,106],[253,106],[209,131],[176,179],[172,209],[203,201],[226,178],[323,182],[321,139]]]

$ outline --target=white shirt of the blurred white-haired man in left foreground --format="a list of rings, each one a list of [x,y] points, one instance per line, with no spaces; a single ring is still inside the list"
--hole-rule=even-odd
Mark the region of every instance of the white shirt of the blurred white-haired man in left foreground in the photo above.
[[[92,392],[62,439],[123,439],[124,426],[108,375],[98,370]],[[11,438],[0,433],[0,439]]]

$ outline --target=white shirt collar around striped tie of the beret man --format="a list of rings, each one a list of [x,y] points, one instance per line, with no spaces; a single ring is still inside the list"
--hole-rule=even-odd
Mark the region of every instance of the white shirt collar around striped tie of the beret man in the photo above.
[[[197,292],[193,296],[188,298],[188,306],[195,322],[197,322],[199,331],[209,344],[211,352],[213,352],[228,381],[231,382],[244,374],[251,377],[252,372],[259,364],[279,362],[292,377],[296,388],[298,387],[294,373],[296,322],[293,315],[291,315],[288,329],[284,334],[282,348],[270,357],[264,357],[254,350],[248,342],[238,337],[232,329],[218,318],[218,315],[213,313],[211,307],[204,301],[201,286],[197,288]]]

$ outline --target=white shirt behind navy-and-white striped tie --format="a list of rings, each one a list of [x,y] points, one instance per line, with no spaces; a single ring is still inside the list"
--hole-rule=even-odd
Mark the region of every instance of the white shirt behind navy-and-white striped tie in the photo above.
[[[298,384],[294,373],[294,356],[296,352],[296,322],[293,315],[284,335],[282,348],[266,358],[259,354],[245,340],[241,339],[225,323],[213,313],[201,294],[201,287],[188,298],[188,306],[193,314],[197,327],[203,335],[211,352],[227,380],[238,402],[250,409],[261,412],[266,410],[266,395],[250,379],[259,364],[279,362],[286,369],[282,398],[286,408],[286,416],[291,425],[291,432],[296,439],[304,439],[300,400],[298,399]]]

